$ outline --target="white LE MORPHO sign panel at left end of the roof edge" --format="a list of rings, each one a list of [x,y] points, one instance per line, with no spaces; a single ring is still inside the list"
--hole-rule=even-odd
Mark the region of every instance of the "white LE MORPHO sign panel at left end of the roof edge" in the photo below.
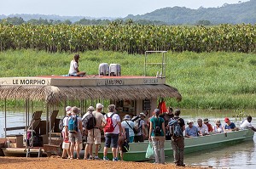
[[[0,85],[49,85],[49,79],[43,78],[2,78]]]

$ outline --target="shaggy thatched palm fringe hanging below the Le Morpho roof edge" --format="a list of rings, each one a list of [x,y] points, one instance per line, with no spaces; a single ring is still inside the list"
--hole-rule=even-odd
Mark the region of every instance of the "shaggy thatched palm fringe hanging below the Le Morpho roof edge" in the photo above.
[[[164,84],[101,87],[0,86],[0,99],[41,100],[46,104],[57,104],[65,100],[122,100],[158,97],[182,99],[177,88]]]

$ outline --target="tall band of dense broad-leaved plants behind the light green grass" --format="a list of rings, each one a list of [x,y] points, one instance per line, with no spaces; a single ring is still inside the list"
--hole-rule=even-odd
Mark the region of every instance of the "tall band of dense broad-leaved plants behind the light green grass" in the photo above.
[[[143,54],[256,51],[256,25],[0,25],[0,51],[33,48],[49,52],[105,50]]]

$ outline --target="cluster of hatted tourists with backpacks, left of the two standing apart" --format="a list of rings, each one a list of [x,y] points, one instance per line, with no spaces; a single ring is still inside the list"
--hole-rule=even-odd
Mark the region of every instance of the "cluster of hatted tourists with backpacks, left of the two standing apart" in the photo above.
[[[79,117],[80,110],[77,107],[66,107],[67,115],[63,118],[63,143],[70,143],[68,149],[63,149],[62,158],[73,159],[73,152],[76,151],[79,159],[80,149],[83,146],[82,138],[85,136],[86,145],[84,149],[84,160],[104,160],[108,159],[108,149],[111,147],[113,152],[113,161],[118,161],[118,152],[120,151],[120,160],[123,160],[123,151],[120,149],[125,142],[143,142],[146,134],[145,121],[146,115],[140,113],[131,119],[130,115],[125,115],[121,121],[114,104],[108,105],[108,113],[102,114],[103,105],[96,104],[96,110],[90,106],[83,117]],[[102,131],[104,132],[105,147],[103,150],[103,159],[98,156],[99,145],[102,140]],[[92,148],[95,144],[95,154],[93,156]]]

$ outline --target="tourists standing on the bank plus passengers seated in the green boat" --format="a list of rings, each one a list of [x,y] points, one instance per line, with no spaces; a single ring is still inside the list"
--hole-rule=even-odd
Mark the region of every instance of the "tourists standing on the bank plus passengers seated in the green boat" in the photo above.
[[[165,140],[171,140],[174,156],[174,163],[177,166],[185,166],[183,163],[184,138],[193,138],[206,136],[210,133],[222,133],[236,131],[234,122],[228,117],[224,118],[225,124],[222,125],[220,120],[215,121],[215,125],[209,123],[207,118],[198,119],[197,125],[194,121],[187,122],[179,115],[181,110],[174,110],[169,107],[166,113],[160,114],[159,109],[155,109],[153,116],[144,121],[147,114],[140,113],[131,118],[125,115],[121,121],[116,113],[115,105],[108,105],[108,113],[102,114],[103,105],[96,104],[96,110],[90,106],[88,111],[81,118],[80,110],[77,107],[67,106],[67,115],[63,119],[63,141],[69,142],[70,147],[63,149],[62,158],[73,159],[73,152],[76,151],[77,159],[79,159],[80,149],[82,148],[82,136],[86,136],[86,145],[84,149],[84,160],[104,160],[108,159],[108,149],[111,147],[113,161],[119,161],[118,152],[120,152],[120,160],[123,160],[124,154],[122,146],[126,143],[144,142],[148,127],[148,140],[153,144],[155,163],[165,164]],[[241,128],[251,128],[255,132],[256,129],[251,125],[252,117],[248,116],[243,121]],[[74,125],[76,124],[76,125]],[[103,149],[103,158],[98,156],[99,145],[102,140],[102,131],[104,132],[105,146]],[[183,134],[184,132],[184,134]],[[95,145],[94,155],[92,153]]]

